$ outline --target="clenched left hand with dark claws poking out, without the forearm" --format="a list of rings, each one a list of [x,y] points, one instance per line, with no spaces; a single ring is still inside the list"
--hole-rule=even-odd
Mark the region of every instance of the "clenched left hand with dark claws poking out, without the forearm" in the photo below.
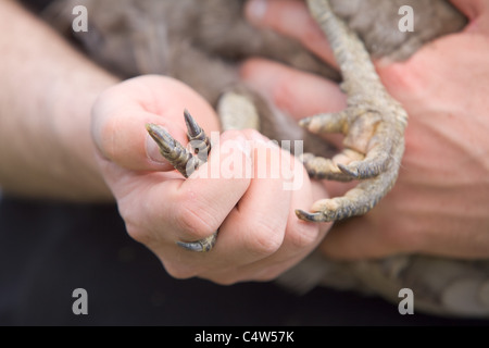
[[[212,108],[193,90],[172,78],[141,76],[103,92],[92,109],[92,136],[99,164],[129,235],[145,244],[178,278],[199,276],[221,284],[272,279],[319,244],[329,225],[299,221],[293,209],[309,207],[326,191],[309,181],[302,165],[254,130],[226,132],[208,163],[188,179],[159,154],[145,128],[159,124],[186,145],[187,108],[208,134],[218,129]],[[256,178],[259,152],[283,160],[287,175]],[[239,171],[240,165],[241,170]],[[279,163],[271,162],[271,170]],[[205,177],[206,173],[231,175]],[[254,173],[251,178],[243,173]],[[280,171],[280,173],[283,173]],[[316,195],[313,195],[316,192]],[[192,252],[177,240],[198,240],[220,229],[211,252]]]

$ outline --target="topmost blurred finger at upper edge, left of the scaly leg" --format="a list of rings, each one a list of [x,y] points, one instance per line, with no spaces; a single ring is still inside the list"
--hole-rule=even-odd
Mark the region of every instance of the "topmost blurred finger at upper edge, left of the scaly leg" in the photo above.
[[[258,27],[267,27],[294,38],[330,65],[337,66],[325,35],[303,1],[251,0],[247,2],[244,13]]]

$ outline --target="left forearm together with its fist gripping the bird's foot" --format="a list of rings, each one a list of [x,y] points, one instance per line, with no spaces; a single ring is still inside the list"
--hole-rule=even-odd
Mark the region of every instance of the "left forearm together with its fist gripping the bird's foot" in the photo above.
[[[256,132],[221,135],[231,151],[214,148],[199,172],[211,166],[217,173],[231,158],[253,173],[260,165],[278,165],[281,156],[302,181],[300,189],[285,190],[290,181],[284,175],[241,178],[237,172],[184,179],[176,173],[159,156],[145,124],[158,123],[185,144],[187,108],[206,132],[218,130],[215,112],[188,86],[163,76],[121,83],[14,1],[0,0],[0,33],[5,52],[0,58],[0,185],[8,195],[115,201],[128,234],[170,274],[220,284],[276,277],[316,248],[330,227],[297,220],[293,209],[310,207],[327,192],[290,153]],[[256,154],[264,150],[275,162],[259,163]],[[217,228],[212,252],[175,244]]]

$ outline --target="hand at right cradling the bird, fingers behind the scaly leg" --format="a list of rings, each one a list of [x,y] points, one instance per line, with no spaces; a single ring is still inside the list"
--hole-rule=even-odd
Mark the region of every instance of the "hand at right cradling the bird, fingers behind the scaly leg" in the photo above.
[[[248,7],[253,23],[299,39],[334,64],[327,41],[303,2],[261,3],[259,11]],[[489,257],[489,117],[485,98],[489,86],[489,1],[453,3],[471,22],[462,33],[426,45],[405,62],[375,62],[386,88],[410,115],[404,158],[394,188],[373,211],[338,223],[330,231],[321,249],[331,258],[402,252]],[[338,86],[277,63],[250,60],[241,73],[297,119],[344,107]],[[337,136],[328,139],[341,146]],[[331,196],[340,196],[350,187],[331,182],[325,186]]]

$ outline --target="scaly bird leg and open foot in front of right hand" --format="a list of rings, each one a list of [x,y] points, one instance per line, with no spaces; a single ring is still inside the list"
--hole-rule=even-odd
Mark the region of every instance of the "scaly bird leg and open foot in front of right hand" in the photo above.
[[[308,4],[340,66],[348,107],[302,120],[301,125],[315,134],[342,133],[342,157],[348,160],[336,164],[305,154],[303,163],[312,177],[363,181],[343,197],[315,202],[313,213],[296,211],[302,220],[328,222],[366,213],[391,189],[404,151],[408,114],[384,88],[362,41],[333,13],[329,1]]]

